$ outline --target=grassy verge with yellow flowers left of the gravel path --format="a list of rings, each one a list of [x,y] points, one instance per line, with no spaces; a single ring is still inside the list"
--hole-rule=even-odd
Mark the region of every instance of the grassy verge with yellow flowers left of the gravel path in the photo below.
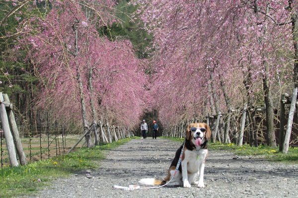
[[[0,198],[34,193],[44,186],[49,186],[56,178],[68,177],[80,170],[98,168],[98,161],[105,158],[107,151],[127,143],[130,139],[82,148],[68,155],[36,161],[27,166],[5,166],[0,169]]]

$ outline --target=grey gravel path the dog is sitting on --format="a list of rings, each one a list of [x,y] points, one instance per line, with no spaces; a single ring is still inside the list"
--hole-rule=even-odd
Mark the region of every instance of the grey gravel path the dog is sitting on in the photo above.
[[[195,186],[123,191],[113,185],[139,185],[142,178],[163,179],[179,142],[133,139],[110,151],[98,170],[53,182],[38,198],[298,198],[298,165],[209,150],[205,189]],[[234,159],[233,159],[234,158]],[[236,159],[235,159],[236,158]],[[91,171],[91,172],[90,172]],[[90,173],[88,173],[90,172]],[[91,178],[87,178],[89,174]],[[145,187],[145,186],[141,186]]]

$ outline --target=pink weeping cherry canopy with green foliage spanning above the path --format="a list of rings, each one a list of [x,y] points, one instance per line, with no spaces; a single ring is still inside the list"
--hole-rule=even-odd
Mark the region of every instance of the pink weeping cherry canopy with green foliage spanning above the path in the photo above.
[[[94,106],[98,120],[130,128],[156,110],[170,127],[245,103],[278,108],[297,86],[296,1],[5,0],[0,8],[0,87],[26,119],[46,110],[79,126],[84,103],[89,122]]]

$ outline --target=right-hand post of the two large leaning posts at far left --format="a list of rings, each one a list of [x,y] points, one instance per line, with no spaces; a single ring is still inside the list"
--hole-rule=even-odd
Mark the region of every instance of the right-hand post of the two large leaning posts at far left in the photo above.
[[[3,94],[3,100],[5,102],[10,103],[7,94]],[[6,109],[6,113],[7,113],[7,116],[8,116],[8,122],[10,124],[11,133],[12,133],[12,136],[13,136],[13,140],[14,140],[14,144],[15,144],[15,148],[16,148],[16,153],[17,153],[17,155],[19,157],[19,160],[20,160],[20,164],[21,165],[27,165],[26,155],[25,155],[25,152],[24,152],[21,140],[20,140],[20,135],[19,135],[16,123],[15,123],[15,118],[14,118],[13,112],[10,109]]]

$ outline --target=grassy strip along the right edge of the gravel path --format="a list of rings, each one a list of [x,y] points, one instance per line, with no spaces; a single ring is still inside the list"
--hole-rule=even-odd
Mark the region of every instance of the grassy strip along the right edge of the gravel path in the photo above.
[[[174,141],[179,141],[181,142],[181,144],[184,141],[184,138],[170,139],[173,139]],[[257,156],[269,161],[279,161],[284,163],[298,164],[298,147],[289,147],[289,151],[287,154],[280,152],[278,147],[269,147],[266,145],[259,145],[258,147],[253,147],[248,144],[237,146],[234,143],[208,142],[208,148],[210,150],[229,150],[235,153],[236,155]]]

